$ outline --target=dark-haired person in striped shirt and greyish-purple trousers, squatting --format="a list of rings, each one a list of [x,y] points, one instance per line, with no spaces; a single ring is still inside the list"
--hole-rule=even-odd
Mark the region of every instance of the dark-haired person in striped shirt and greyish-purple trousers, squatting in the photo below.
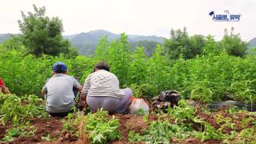
[[[106,62],[98,62],[81,91],[81,98],[86,100],[92,111],[99,109],[113,113],[124,113],[132,97],[130,88],[120,89],[118,78],[110,73]]]

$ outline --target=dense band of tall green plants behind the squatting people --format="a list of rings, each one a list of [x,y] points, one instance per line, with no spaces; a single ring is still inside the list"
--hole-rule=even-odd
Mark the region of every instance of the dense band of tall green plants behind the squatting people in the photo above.
[[[208,42],[209,41],[209,42]],[[205,49],[213,49],[212,39],[206,40]],[[14,94],[39,95],[46,79],[51,77],[54,62],[65,62],[68,74],[80,81],[92,72],[99,61],[110,63],[110,71],[118,76],[120,87],[131,86],[135,96],[152,98],[162,90],[178,90],[182,98],[202,102],[233,98],[237,101],[256,102],[256,57],[239,58],[225,51],[205,51],[200,56],[170,60],[158,45],[148,58],[143,48],[130,53],[126,34],[114,42],[103,38],[95,56],[70,58],[64,54],[35,58],[15,50],[0,54],[0,75]]]

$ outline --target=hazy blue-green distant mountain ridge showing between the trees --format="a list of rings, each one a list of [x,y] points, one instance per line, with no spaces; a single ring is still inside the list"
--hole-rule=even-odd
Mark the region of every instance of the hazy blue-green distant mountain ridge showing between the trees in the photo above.
[[[0,42],[4,42],[12,35],[17,34],[0,34]],[[71,45],[78,49],[79,54],[90,55],[94,54],[98,41],[104,36],[107,36],[110,42],[120,38],[120,34],[114,34],[107,30],[91,30],[79,34],[67,34],[63,35],[63,38],[69,39]],[[137,46],[143,46],[148,56],[152,53],[154,47],[157,44],[162,44],[164,40],[165,38],[155,35],[128,34],[130,50],[134,50]],[[248,43],[248,50],[256,49],[256,38],[252,38]]]

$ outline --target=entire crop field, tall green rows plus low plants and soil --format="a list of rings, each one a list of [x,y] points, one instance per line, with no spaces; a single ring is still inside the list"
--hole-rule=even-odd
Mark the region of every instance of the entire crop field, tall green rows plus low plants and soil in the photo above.
[[[0,54],[0,75],[12,92],[0,94],[1,142],[80,143],[255,143],[256,113],[222,107],[209,110],[204,103],[234,100],[256,102],[256,57],[202,54],[196,58],[170,60],[158,46],[152,57],[143,48],[131,53],[127,37],[99,42],[95,56],[66,55],[36,58],[15,50]],[[54,62],[65,62],[68,74],[80,82],[104,60],[118,76],[120,86],[134,91],[134,97],[150,99],[162,90],[178,90],[182,100],[165,111],[148,115],[115,114],[104,110],[75,110],[66,118],[46,114],[40,90],[51,76]],[[190,106],[188,100],[202,102]]]

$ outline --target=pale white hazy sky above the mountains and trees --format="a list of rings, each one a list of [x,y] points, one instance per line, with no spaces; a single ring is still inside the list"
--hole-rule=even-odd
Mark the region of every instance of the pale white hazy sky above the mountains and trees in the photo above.
[[[190,35],[211,34],[219,39],[233,26],[243,40],[256,37],[256,0],[0,0],[0,34],[19,33],[21,10],[46,6],[47,16],[62,19],[64,34],[109,30],[115,34],[158,35],[184,26]],[[240,22],[213,22],[209,13],[242,14]]]

